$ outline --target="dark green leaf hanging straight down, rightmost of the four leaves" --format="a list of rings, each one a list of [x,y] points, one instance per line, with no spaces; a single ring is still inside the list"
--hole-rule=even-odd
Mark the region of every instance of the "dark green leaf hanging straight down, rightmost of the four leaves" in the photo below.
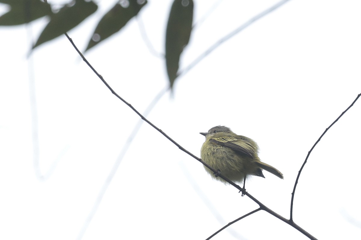
[[[179,57],[191,36],[192,21],[193,1],[174,0],[165,36],[165,60],[171,88],[178,76]]]

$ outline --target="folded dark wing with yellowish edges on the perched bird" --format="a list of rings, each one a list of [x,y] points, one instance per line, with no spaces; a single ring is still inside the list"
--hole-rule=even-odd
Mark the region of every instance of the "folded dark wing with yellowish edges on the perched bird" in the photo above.
[[[209,141],[213,144],[226,146],[235,151],[239,151],[240,153],[247,154],[251,158],[253,158],[253,154],[256,152],[255,147],[253,147],[251,143],[243,139],[237,139],[235,137],[218,137]]]

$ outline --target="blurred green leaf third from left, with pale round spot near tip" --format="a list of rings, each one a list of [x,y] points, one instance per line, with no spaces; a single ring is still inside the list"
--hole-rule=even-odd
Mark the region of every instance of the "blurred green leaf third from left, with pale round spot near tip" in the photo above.
[[[147,0],[121,0],[100,19],[85,51],[122,29]]]

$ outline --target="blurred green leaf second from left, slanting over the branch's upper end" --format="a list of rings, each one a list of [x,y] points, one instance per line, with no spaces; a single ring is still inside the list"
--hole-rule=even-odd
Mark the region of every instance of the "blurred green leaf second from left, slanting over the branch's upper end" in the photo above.
[[[32,49],[68,32],[83,22],[84,19],[93,14],[98,8],[93,1],[76,0],[71,3],[73,4],[67,4],[58,13],[51,15],[50,22],[44,28]]]

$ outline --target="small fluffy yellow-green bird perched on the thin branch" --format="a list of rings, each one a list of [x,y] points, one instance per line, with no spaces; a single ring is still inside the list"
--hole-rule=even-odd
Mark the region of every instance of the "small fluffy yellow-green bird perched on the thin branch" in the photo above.
[[[205,136],[201,148],[202,160],[232,182],[243,181],[243,188],[248,175],[265,177],[262,169],[283,179],[280,171],[261,162],[258,145],[252,139],[237,135],[225,126],[212,127],[208,132],[200,134]],[[226,183],[209,168],[204,168],[213,178]]]

